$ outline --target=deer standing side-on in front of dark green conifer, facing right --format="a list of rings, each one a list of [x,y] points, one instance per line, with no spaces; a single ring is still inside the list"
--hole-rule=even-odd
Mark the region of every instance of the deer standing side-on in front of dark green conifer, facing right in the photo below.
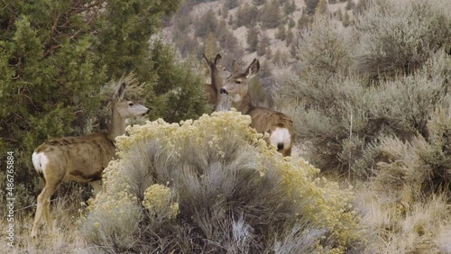
[[[111,126],[108,132],[45,141],[34,150],[32,164],[41,179],[43,189],[37,199],[32,240],[36,240],[42,212],[47,226],[51,229],[50,199],[61,182],[88,182],[96,193],[101,191],[102,172],[109,161],[115,159],[115,138],[125,133],[127,119],[149,112],[142,104],[123,99],[126,81],[119,81],[113,95]]]

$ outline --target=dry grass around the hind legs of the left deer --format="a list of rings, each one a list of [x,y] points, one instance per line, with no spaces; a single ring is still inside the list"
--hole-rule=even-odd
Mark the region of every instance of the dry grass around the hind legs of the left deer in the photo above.
[[[83,253],[85,240],[78,231],[80,213],[86,207],[83,201],[87,195],[87,185],[68,184],[58,189],[59,197],[51,200],[51,223],[49,230],[45,223],[41,225],[41,231],[37,244],[32,242],[32,222],[35,206],[16,206],[14,213],[14,247],[6,245],[6,235],[0,233],[0,245],[4,246],[4,252],[10,254],[19,253]],[[20,195],[16,195],[20,197]],[[20,198],[17,198],[17,200]],[[35,203],[35,200],[30,204]],[[27,213],[25,213],[25,211]],[[0,227],[7,228],[6,220],[0,223]]]

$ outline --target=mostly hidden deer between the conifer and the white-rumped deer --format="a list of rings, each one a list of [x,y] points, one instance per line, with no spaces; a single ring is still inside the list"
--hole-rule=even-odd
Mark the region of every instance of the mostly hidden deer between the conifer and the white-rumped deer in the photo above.
[[[230,72],[226,71],[226,68],[220,65],[222,59],[220,54],[216,55],[214,61],[207,59],[204,54],[202,56],[207,62],[211,77],[211,84],[204,84],[208,102],[213,104],[215,111],[225,110],[227,108],[227,102],[224,97],[219,96],[219,90],[224,86],[223,80],[230,76]]]

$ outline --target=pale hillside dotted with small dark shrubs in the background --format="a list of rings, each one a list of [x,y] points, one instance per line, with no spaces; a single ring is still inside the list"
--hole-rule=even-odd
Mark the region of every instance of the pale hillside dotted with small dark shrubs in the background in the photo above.
[[[259,58],[274,68],[294,62],[301,32],[308,29],[315,14],[328,14],[337,30],[345,30],[352,25],[354,14],[364,8],[366,1],[362,2],[189,0],[167,21],[163,35],[183,57],[200,59],[202,53],[213,57],[221,52],[226,64],[232,59],[245,64]]]

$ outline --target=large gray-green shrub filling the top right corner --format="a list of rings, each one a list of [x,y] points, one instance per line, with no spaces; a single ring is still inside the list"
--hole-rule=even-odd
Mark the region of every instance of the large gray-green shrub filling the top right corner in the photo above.
[[[451,2],[373,1],[357,17],[356,68],[368,77],[410,74],[451,38]]]

